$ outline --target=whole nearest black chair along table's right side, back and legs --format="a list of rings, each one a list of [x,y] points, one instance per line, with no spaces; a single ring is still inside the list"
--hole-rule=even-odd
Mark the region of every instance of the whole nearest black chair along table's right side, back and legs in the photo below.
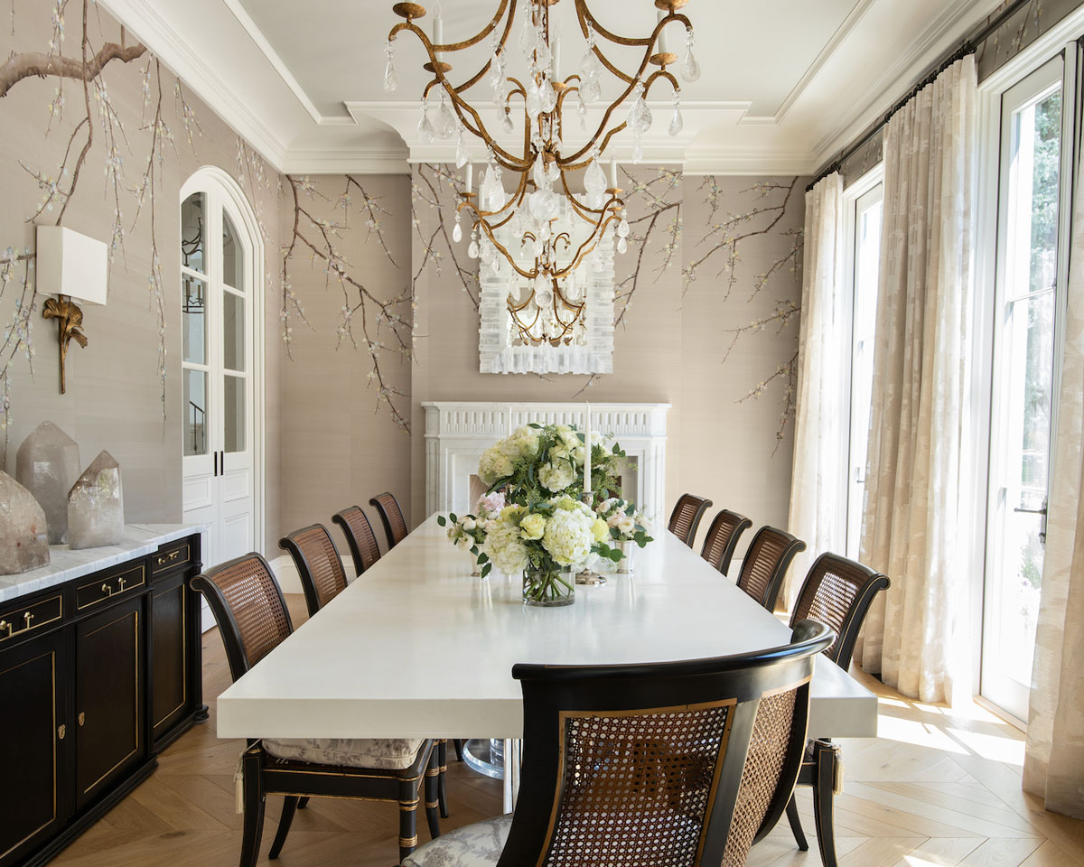
[[[836,640],[825,648],[824,655],[847,671],[869,606],[888,586],[888,577],[868,566],[838,554],[822,554],[805,575],[790,622],[814,618],[831,626]],[[843,789],[842,767],[838,743],[822,738],[805,746],[798,785],[813,787],[813,820],[824,867],[837,867],[833,801]],[[798,847],[804,852],[809,843],[793,798],[787,804],[787,819]]]

